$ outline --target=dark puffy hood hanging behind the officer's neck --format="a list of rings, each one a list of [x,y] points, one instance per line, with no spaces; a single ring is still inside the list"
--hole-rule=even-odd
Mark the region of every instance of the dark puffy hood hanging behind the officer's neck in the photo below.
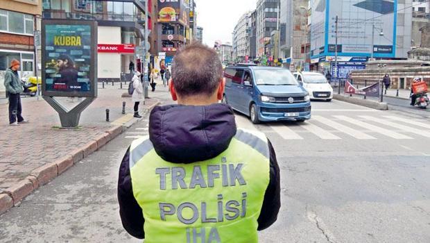
[[[209,160],[228,148],[236,135],[230,106],[157,106],[150,113],[149,138],[168,162]]]

